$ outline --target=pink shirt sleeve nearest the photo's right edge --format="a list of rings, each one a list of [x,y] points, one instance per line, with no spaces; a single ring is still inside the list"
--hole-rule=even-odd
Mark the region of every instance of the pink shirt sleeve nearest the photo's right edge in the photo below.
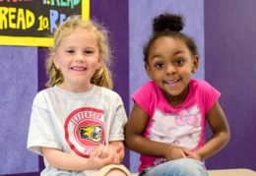
[[[205,81],[202,81],[201,84],[204,94],[203,103],[205,104],[205,111],[208,112],[221,96],[221,92]]]

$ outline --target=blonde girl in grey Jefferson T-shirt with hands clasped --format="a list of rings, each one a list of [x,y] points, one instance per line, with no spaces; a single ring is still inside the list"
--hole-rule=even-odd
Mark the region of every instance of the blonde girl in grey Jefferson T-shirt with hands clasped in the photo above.
[[[71,18],[56,29],[48,58],[49,88],[32,103],[28,148],[43,156],[41,175],[129,175],[126,113],[111,90],[106,30]]]

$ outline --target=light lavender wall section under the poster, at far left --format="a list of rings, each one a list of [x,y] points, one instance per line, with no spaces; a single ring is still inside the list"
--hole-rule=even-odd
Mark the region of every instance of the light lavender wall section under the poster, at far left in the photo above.
[[[29,151],[32,99],[37,92],[37,48],[0,46],[0,175],[35,171]]]

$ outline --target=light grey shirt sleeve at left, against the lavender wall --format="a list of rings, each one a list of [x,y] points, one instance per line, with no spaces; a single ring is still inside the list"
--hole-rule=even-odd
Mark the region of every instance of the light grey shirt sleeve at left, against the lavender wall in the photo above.
[[[42,155],[40,147],[61,149],[51,120],[46,97],[42,92],[36,94],[32,103],[31,123],[28,137],[28,149]]]

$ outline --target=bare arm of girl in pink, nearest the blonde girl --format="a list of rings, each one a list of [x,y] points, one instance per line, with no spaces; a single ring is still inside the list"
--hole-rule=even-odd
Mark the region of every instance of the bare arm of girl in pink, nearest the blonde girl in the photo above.
[[[181,147],[154,142],[143,136],[149,119],[149,114],[135,103],[125,127],[125,146],[141,154],[163,156],[167,160],[186,157]]]

